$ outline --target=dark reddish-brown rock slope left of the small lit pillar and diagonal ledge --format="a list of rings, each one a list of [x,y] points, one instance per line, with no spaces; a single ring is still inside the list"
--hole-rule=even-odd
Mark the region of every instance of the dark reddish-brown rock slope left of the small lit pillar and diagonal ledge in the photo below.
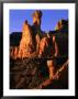
[[[11,61],[10,67],[11,88],[36,88],[47,76],[46,62],[35,58]],[[45,75],[47,75],[45,77]]]

